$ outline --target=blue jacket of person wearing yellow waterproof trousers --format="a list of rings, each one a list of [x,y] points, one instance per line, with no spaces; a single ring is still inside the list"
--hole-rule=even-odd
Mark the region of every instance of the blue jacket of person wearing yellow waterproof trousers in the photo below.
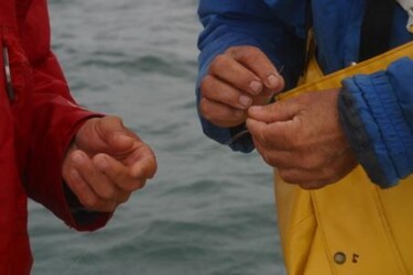
[[[199,81],[217,54],[235,45],[261,48],[291,89],[303,72],[305,33],[308,18],[306,0],[200,0],[198,14],[204,25],[199,35]],[[313,0],[313,28],[317,59],[325,74],[359,59],[363,0]],[[391,47],[413,36],[406,31],[407,15],[396,6]],[[394,62],[387,70],[346,79],[339,112],[345,132],[358,161],[372,182],[382,187],[395,185],[413,173],[413,62]],[[199,116],[206,135],[227,143],[244,125],[218,128]],[[230,144],[235,151],[253,150],[251,138]]]

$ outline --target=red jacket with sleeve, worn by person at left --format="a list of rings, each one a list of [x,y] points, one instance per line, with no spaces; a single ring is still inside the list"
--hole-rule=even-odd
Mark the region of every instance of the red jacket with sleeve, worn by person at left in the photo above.
[[[50,36],[46,0],[0,0],[0,275],[30,274],[28,196],[77,230],[95,230],[109,219],[94,215],[79,221],[66,200],[65,151],[81,123],[96,114],[70,97]]]

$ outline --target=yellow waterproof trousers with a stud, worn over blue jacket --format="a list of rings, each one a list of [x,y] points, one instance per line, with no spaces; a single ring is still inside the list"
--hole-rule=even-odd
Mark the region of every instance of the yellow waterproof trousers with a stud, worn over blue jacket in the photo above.
[[[338,88],[346,77],[384,69],[403,56],[413,58],[413,43],[327,76],[309,62],[311,82],[279,99]],[[381,189],[358,166],[338,183],[308,191],[275,170],[274,185],[289,275],[413,274],[413,176]]]

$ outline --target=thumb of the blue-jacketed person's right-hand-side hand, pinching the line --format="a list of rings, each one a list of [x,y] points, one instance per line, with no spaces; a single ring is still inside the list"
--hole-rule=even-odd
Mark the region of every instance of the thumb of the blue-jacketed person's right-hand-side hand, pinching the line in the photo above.
[[[267,106],[252,106],[248,109],[248,116],[253,120],[271,123],[291,120],[300,110],[300,105],[294,99],[291,99]]]

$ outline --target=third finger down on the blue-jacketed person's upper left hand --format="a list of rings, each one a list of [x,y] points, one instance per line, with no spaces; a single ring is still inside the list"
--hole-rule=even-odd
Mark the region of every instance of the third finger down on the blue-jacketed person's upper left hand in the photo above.
[[[252,105],[252,98],[248,94],[213,76],[203,79],[200,90],[203,97],[236,109],[246,110]]]

